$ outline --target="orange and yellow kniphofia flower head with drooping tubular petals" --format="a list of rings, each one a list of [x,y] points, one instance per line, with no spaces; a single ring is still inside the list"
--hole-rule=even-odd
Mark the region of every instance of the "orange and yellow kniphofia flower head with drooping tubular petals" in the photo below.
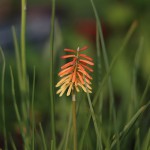
[[[56,87],[60,87],[57,91],[59,96],[62,96],[65,91],[67,91],[67,96],[71,94],[71,91],[75,90],[77,92],[83,89],[84,92],[92,93],[91,80],[92,77],[89,72],[93,72],[90,66],[93,66],[93,59],[81,52],[87,50],[87,46],[83,48],[64,49],[65,52],[70,52],[62,56],[62,59],[70,58],[71,61],[66,63],[61,67],[61,71],[58,76],[61,77],[60,81],[56,84]]]

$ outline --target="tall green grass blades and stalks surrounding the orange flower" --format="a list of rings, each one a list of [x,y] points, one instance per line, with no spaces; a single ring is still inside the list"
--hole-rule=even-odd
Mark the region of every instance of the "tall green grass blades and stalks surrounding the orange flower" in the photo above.
[[[115,106],[115,97],[114,89],[112,82],[111,73],[112,70],[120,58],[122,53],[125,51],[129,41],[132,40],[132,36],[137,28],[137,21],[133,21],[128,32],[126,33],[120,49],[114,55],[112,61],[108,59],[107,49],[105,45],[105,40],[103,37],[103,31],[101,27],[101,20],[97,12],[97,8],[93,0],[91,2],[91,8],[93,8],[94,16],[97,23],[97,34],[96,34],[96,67],[97,71],[97,81],[96,88],[93,89],[92,95],[77,95],[77,110],[76,106],[73,105],[74,112],[77,112],[77,120],[72,122],[72,114],[66,105],[64,110],[67,111],[66,120],[61,120],[65,126],[65,131],[58,129],[58,120],[59,117],[64,115],[65,111],[61,112],[61,109],[58,111],[58,106],[55,105],[58,101],[58,97],[54,93],[54,80],[55,80],[55,64],[54,64],[54,33],[55,33],[55,0],[52,0],[52,13],[51,13],[51,27],[50,27],[50,51],[49,51],[49,100],[50,100],[50,125],[42,124],[41,121],[37,122],[36,112],[35,112],[35,100],[38,93],[36,93],[36,76],[38,72],[36,66],[32,67],[33,76],[32,82],[29,81],[29,75],[27,74],[27,61],[26,61],[26,0],[22,0],[21,5],[21,39],[20,43],[17,39],[15,27],[12,27],[14,48],[16,54],[16,68],[17,68],[17,79],[19,83],[19,95],[21,97],[21,106],[17,103],[18,96],[16,95],[16,76],[15,69],[10,65],[10,78],[11,78],[11,99],[13,100],[15,116],[17,118],[17,124],[19,126],[19,133],[23,140],[22,147],[25,150],[34,150],[34,149],[51,149],[51,150],[71,150],[73,149],[73,132],[71,125],[75,125],[77,130],[75,131],[75,149],[83,150],[124,150],[131,149],[129,145],[133,145],[135,150],[149,150],[150,149],[150,128],[146,126],[147,133],[141,133],[143,127],[140,126],[142,119],[145,116],[143,114],[149,113],[150,102],[148,100],[145,103],[146,95],[148,93],[150,77],[146,82],[145,88],[142,91],[141,96],[137,94],[137,72],[140,64],[140,56],[142,53],[144,40],[143,38],[139,42],[138,50],[135,55],[133,72],[132,72],[132,90],[131,90],[131,99],[127,100],[127,105],[120,104],[120,110],[116,110]],[[56,35],[57,36],[57,35]],[[2,58],[2,73],[1,73],[1,100],[2,100],[2,122],[3,122],[3,136],[4,136],[4,149],[17,149],[17,144],[10,135],[10,140],[7,138],[7,124],[6,124],[6,105],[5,105],[5,68],[6,61],[5,56],[0,48],[1,58]],[[101,60],[104,60],[104,66]],[[102,74],[102,67],[105,68],[106,73]],[[42,79],[44,80],[44,79]],[[32,85],[32,88],[29,88],[29,85]],[[106,102],[106,96],[104,95],[105,86],[108,87],[106,93],[108,96],[108,104]],[[44,89],[42,89],[44,90]],[[42,93],[42,90],[40,91]],[[36,95],[37,94],[37,95]],[[30,97],[31,95],[31,97]],[[68,100],[64,96],[64,100]],[[81,100],[80,102],[78,100]],[[62,101],[63,103],[64,101]],[[68,102],[69,103],[69,102]],[[87,105],[88,103],[88,105]],[[123,102],[122,102],[123,103]],[[57,103],[58,104],[58,103]],[[67,103],[66,103],[67,104]],[[98,105],[97,105],[98,104]],[[133,105],[131,105],[133,104]],[[107,107],[107,109],[105,108]],[[134,107],[134,108],[133,108]],[[58,108],[58,109],[56,109]],[[62,108],[62,107],[61,107]],[[125,109],[126,111],[123,111]],[[121,113],[120,116],[124,117],[128,114],[127,119],[122,121],[122,118],[118,117],[117,113]],[[56,115],[57,114],[57,115]],[[74,113],[75,114],[75,113]],[[58,116],[58,117],[56,117]],[[49,117],[48,117],[49,118]],[[57,119],[58,118],[58,119]],[[64,117],[65,118],[65,117]],[[47,122],[46,122],[47,123]],[[121,124],[121,125],[120,125]],[[38,127],[37,127],[38,126]],[[48,126],[48,129],[46,128]],[[76,128],[75,127],[75,128]],[[48,133],[46,132],[48,130]],[[76,141],[77,138],[77,141]],[[132,144],[130,140],[133,139]],[[9,144],[10,143],[10,144]]]

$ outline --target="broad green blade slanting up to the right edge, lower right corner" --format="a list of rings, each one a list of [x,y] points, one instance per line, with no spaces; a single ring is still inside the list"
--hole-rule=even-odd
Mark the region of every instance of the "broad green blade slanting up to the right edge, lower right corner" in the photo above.
[[[129,130],[133,127],[135,122],[138,120],[140,115],[150,106],[150,102],[148,102],[146,105],[142,106],[136,114],[131,118],[131,120],[125,125],[123,130],[119,134],[120,140],[123,140],[123,138],[128,134]],[[116,136],[113,137],[113,141],[111,143],[111,149],[115,146],[117,143]]]

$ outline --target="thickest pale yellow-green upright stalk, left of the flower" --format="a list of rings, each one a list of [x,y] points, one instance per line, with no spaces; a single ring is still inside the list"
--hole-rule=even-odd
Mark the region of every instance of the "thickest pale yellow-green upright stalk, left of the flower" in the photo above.
[[[23,115],[23,124],[26,127],[24,148],[28,149],[30,145],[30,136],[29,136],[29,95],[28,95],[28,79],[26,73],[26,0],[21,0],[21,72],[22,72],[22,89],[21,89],[21,106],[22,106],[22,115]]]

